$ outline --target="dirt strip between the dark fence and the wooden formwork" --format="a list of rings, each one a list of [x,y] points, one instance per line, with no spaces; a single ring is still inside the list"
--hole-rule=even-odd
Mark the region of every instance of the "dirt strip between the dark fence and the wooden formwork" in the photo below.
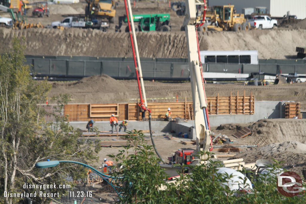
[[[115,80],[107,75],[91,76],[78,82],[50,82],[53,88],[49,97],[60,93],[67,93],[73,98],[73,103],[117,103],[137,102],[131,100],[139,98],[136,80]],[[169,98],[178,95],[179,101],[192,101],[191,85],[185,83],[162,83],[144,81],[147,98]],[[268,86],[243,86],[240,84],[205,84],[207,96],[252,95],[256,101],[297,101],[301,110],[306,109],[306,83]],[[298,94],[295,94],[295,93]],[[149,100],[150,101],[150,100]],[[171,102],[175,99],[157,99],[156,102]],[[263,116],[265,117],[265,116]]]

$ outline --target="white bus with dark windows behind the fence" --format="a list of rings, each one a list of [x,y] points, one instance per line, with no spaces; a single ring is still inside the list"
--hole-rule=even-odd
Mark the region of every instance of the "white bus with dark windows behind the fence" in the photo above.
[[[201,62],[258,65],[257,50],[200,51]]]

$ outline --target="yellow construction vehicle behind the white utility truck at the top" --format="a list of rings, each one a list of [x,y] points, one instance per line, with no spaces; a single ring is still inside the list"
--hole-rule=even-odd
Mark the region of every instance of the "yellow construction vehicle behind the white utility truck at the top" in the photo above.
[[[107,19],[110,23],[114,23],[116,15],[115,0],[86,0],[85,15],[91,19]]]

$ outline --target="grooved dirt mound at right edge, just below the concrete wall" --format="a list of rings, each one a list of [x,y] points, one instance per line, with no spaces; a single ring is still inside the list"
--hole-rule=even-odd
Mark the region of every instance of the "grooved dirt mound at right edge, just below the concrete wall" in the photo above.
[[[269,119],[259,120],[248,127],[252,134],[249,139],[264,146],[270,143],[298,141],[306,143],[306,120]]]

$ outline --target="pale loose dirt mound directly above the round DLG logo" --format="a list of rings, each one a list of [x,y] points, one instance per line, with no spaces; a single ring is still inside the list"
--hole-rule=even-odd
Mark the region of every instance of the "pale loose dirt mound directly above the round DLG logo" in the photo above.
[[[284,166],[295,165],[292,170],[300,173],[300,170],[306,167],[306,144],[297,141],[271,143],[263,147],[243,151],[236,156],[244,158],[246,163],[256,162],[258,159],[266,159],[273,162],[272,158],[274,158],[277,161],[284,161]]]

